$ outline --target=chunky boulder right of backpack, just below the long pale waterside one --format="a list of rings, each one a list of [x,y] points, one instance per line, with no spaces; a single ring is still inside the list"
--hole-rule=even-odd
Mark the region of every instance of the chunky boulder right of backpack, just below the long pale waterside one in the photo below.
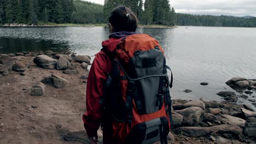
[[[201,107],[188,107],[187,109],[178,110],[177,113],[183,116],[182,124],[194,126],[202,121],[204,111]]]

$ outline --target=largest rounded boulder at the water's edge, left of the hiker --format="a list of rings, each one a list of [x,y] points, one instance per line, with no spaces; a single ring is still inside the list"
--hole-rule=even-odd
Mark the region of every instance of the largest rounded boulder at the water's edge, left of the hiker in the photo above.
[[[46,55],[38,55],[34,58],[34,63],[44,69],[55,69],[57,60]]]

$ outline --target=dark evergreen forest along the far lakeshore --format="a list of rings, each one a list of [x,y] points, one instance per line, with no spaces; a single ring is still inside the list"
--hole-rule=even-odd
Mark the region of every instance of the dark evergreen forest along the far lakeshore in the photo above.
[[[0,23],[107,23],[110,11],[119,5],[131,8],[141,25],[256,27],[256,17],[176,13],[168,0],[105,0],[104,5],[82,0],[0,0]]]

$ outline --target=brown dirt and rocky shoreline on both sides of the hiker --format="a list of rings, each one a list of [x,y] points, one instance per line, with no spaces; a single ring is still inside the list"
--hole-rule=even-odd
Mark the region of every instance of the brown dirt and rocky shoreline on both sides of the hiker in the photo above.
[[[82,115],[90,62],[90,56],[69,51],[0,54],[1,142],[88,143]],[[217,93],[224,101],[173,100],[168,142],[255,143],[255,108],[236,102],[255,93],[256,80],[234,77],[226,84],[241,95]],[[101,130],[98,134],[102,143]]]

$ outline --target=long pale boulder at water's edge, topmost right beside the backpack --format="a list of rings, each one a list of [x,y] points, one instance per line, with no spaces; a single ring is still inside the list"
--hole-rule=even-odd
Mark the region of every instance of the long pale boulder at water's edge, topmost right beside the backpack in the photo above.
[[[200,100],[188,101],[185,104],[174,104],[173,109],[174,110],[182,110],[182,109],[185,109],[185,108],[191,107],[191,106],[201,107],[203,110],[205,110],[205,104]]]

